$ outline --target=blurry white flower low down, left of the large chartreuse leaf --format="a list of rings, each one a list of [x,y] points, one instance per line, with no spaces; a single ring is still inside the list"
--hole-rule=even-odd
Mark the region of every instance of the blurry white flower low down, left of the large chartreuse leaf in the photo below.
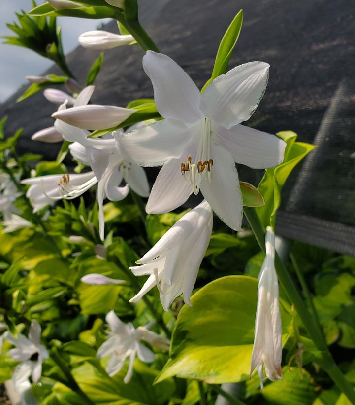
[[[167,350],[169,347],[167,339],[146,330],[144,327],[134,329],[131,323],[123,323],[113,310],[106,315],[106,322],[111,331],[108,333],[108,339],[98,349],[97,357],[99,359],[110,357],[106,366],[106,371],[110,377],[117,374],[124,366],[126,359],[129,359],[129,368],[123,380],[126,384],[132,378],[136,356],[145,363],[151,363],[155,359],[154,353],[139,343],[140,339],[144,339],[151,345],[163,350]]]

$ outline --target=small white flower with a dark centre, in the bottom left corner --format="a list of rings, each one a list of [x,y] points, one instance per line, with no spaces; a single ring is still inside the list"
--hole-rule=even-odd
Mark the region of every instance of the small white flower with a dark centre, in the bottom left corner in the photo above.
[[[9,355],[18,362],[15,368],[16,380],[27,380],[32,374],[33,382],[41,378],[42,363],[48,359],[47,349],[40,344],[41,327],[37,321],[32,321],[28,338],[19,333],[14,337],[10,332],[5,332],[4,339],[16,346],[9,350]]]

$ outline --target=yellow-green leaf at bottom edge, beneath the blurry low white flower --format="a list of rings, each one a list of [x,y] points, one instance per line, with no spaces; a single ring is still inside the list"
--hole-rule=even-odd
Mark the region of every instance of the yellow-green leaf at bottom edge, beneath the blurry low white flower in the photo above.
[[[134,363],[134,372],[128,384],[123,382],[127,373],[127,363],[111,378],[98,374],[88,363],[75,368],[72,372],[80,388],[95,404],[162,405],[168,402],[175,391],[172,380],[153,385],[158,371],[138,360]]]

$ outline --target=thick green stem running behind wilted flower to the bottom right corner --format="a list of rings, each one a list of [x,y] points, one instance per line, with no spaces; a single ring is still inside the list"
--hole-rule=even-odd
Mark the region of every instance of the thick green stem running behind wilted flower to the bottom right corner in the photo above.
[[[244,207],[244,214],[247,217],[261,250],[265,252],[264,229],[255,209]],[[293,303],[307,333],[318,349],[317,360],[319,364],[328,373],[329,377],[334,381],[338,388],[348,397],[349,401],[352,404],[355,404],[355,391],[352,385],[346,380],[345,376],[335,364],[334,359],[329,353],[328,347],[325,343],[322,331],[320,331],[320,329],[315,325],[313,317],[309,314],[301,295],[297,291],[297,288],[290,277],[290,274],[277,254],[275,257],[275,268],[282,287],[284,288],[290,301]]]

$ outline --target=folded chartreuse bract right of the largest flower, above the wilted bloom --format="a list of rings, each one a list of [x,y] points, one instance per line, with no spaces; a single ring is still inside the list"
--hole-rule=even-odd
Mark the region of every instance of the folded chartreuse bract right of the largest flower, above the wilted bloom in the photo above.
[[[265,205],[257,208],[256,211],[265,228],[269,224],[275,227],[276,211],[281,204],[282,187],[297,163],[315,148],[311,144],[296,142],[297,134],[295,132],[283,131],[278,132],[276,135],[287,143],[287,147],[283,163],[266,169],[258,185],[258,190],[264,198]]]

